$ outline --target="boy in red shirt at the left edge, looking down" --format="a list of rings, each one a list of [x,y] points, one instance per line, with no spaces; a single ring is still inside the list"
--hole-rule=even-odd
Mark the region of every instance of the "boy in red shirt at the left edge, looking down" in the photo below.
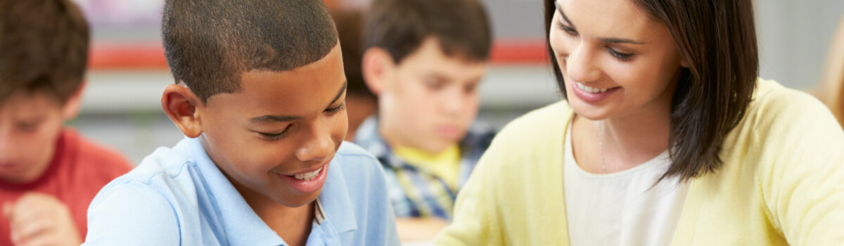
[[[78,245],[97,191],[131,165],[78,115],[89,29],[69,0],[0,0],[0,245]]]

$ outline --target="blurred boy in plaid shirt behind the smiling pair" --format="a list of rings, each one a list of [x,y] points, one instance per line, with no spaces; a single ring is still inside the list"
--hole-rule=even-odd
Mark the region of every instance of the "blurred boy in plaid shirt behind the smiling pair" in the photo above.
[[[399,237],[433,238],[494,133],[470,130],[479,109],[490,27],[476,0],[376,0],[363,73],[377,120],[356,136],[386,174]]]

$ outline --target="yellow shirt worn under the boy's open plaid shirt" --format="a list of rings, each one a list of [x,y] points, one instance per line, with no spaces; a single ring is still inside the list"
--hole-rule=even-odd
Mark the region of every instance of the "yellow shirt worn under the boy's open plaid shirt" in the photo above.
[[[457,144],[437,154],[411,147],[394,147],[392,153],[408,164],[434,174],[446,182],[449,188],[457,190],[457,174],[460,169],[460,147],[457,147]]]

